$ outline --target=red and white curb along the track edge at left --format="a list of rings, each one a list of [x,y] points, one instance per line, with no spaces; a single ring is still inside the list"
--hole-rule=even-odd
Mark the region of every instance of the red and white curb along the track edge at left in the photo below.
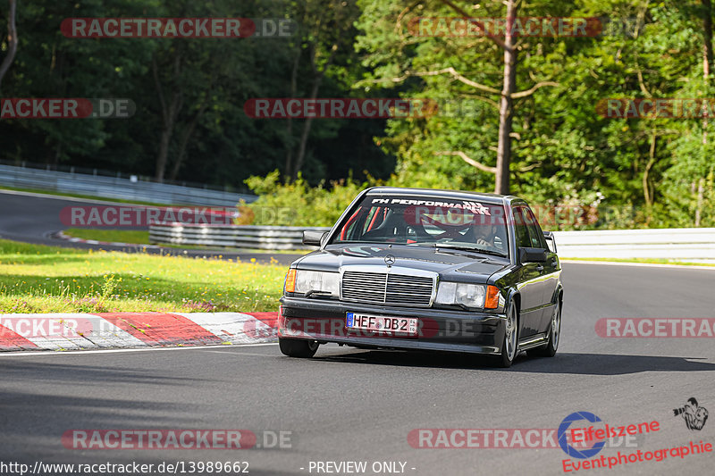
[[[278,313],[0,314],[0,351],[256,344]]]

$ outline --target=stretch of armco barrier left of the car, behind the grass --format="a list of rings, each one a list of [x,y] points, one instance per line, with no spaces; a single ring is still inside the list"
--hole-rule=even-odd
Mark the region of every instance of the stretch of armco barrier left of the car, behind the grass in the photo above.
[[[275,227],[257,225],[207,226],[172,223],[149,226],[149,242],[172,245],[228,246],[254,249],[307,249],[303,230],[327,231],[322,227]]]

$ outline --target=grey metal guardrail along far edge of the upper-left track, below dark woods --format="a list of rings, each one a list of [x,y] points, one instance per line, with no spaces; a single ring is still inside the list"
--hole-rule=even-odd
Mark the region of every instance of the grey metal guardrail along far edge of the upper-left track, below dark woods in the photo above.
[[[182,187],[166,183],[132,181],[119,177],[49,171],[3,164],[0,164],[0,185],[169,205],[232,207],[237,205],[241,199],[250,203],[257,198],[253,195],[208,188]]]

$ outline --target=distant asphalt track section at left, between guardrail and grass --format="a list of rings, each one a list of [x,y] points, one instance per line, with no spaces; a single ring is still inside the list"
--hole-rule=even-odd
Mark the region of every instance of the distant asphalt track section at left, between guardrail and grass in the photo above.
[[[92,245],[71,243],[63,239],[52,238],[57,231],[68,228],[60,220],[60,211],[67,206],[82,205],[125,205],[102,200],[86,200],[63,196],[45,196],[40,194],[0,190],[0,238],[33,243],[38,245],[70,246],[74,248],[105,249],[128,253],[146,252],[163,255],[211,256],[222,255],[224,259],[250,260],[256,258],[260,263],[267,263],[271,256],[279,263],[289,264],[299,255],[268,253],[237,253],[228,251],[192,250],[175,247],[146,248],[142,246]],[[124,230],[137,230],[125,228]],[[140,230],[140,229],[139,229]],[[145,229],[146,230],[146,229]]]

